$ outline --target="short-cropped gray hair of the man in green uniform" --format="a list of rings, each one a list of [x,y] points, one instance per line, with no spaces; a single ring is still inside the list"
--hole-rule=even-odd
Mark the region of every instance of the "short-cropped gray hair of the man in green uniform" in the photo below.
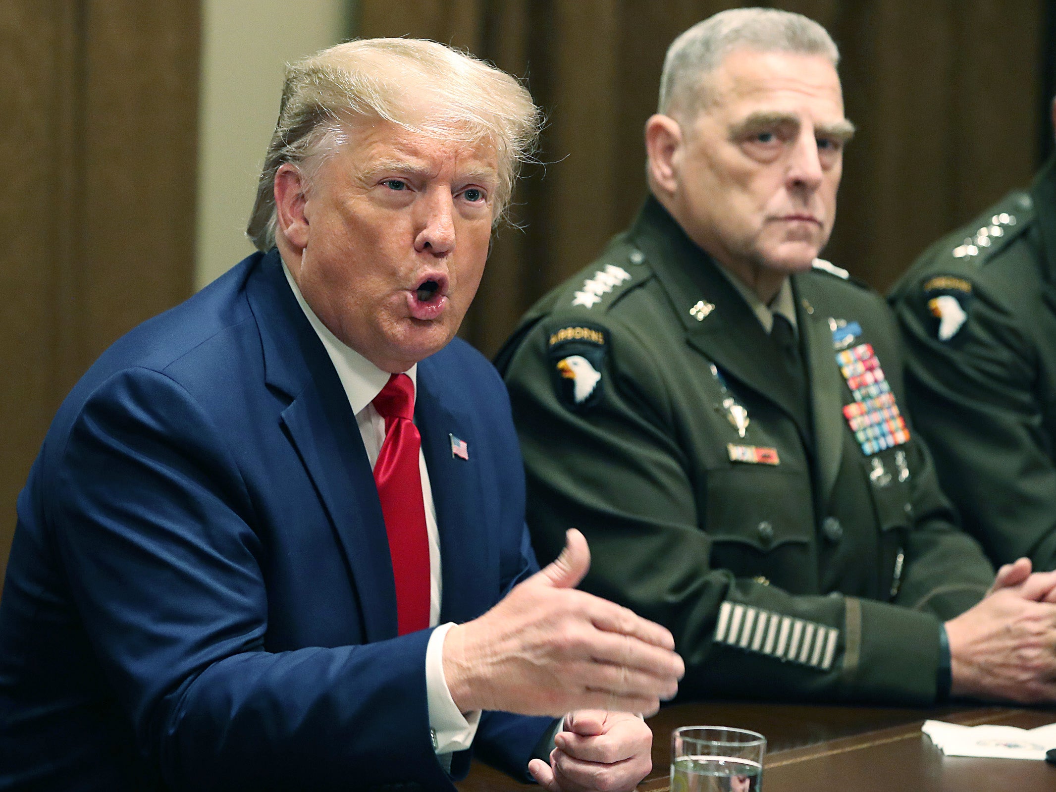
[[[706,101],[702,77],[734,50],[821,55],[835,67],[840,50],[828,32],[802,14],[777,8],[723,11],[676,38],[660,75],[657,112],[693,115]]]

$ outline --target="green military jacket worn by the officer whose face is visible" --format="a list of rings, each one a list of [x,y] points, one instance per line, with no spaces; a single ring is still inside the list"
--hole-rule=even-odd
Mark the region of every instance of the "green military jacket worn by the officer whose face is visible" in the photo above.
[[[496,361],[532,539],[546,560],[584,532],[582,587],[672,630],[681,698],[927,704],[940,622],[993,571],[916,437],[867,455],[844,417],[834,335],[872,344],[904,403],[883,300],[826,271],[792,287],[809,410],[744,299],[653,199],[536,304]]]

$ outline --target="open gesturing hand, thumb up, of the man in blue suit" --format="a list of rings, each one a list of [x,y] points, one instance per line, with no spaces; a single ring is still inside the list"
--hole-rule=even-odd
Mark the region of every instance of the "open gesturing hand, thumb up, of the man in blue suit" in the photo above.
[[[571,710],[652,714],[684,672],[668,630],[577,591],[590,566],[583,534],[484,616],[452,627],[444,676],[463,712],[559,717]]]

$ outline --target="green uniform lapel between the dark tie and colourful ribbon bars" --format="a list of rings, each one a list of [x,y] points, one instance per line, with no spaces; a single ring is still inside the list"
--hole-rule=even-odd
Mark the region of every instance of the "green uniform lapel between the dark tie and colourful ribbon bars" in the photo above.
[[[836,369],[835,350],[832,344],[832,328],[829,317],[819,310],[811,312],[804,306],[816,305],[821,300],[810,291],[807,279],[795,276],[792,287],[797,298],[796,321],[803,333],[810,375],[811,408],[813,410],[815,465],[817,467],[818,504],[829,503],[829,495],[835,485],[844,448],[843,383]],[[800,299],[802,298],[802,299]]]

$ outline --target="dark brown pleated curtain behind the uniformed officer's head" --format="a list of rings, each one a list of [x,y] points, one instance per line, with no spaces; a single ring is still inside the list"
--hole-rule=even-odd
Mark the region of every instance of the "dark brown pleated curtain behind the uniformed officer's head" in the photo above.
[[[681,31],[717,0],[360,0],[362,36],[423,36],[525,78],[547,111],[461,335],[491,355],[539,296],[587,264],[645,194],[642,127]],[[880,289],[1038,165],[1043,0],[759,3],[824,24],[843,52],[847,152],[826,256]]]

